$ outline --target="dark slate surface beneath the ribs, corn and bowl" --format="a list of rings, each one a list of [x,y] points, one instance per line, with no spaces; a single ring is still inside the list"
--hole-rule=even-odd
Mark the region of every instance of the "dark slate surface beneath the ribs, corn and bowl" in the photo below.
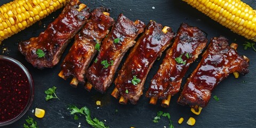
[[[243,0],[245,3],[251,5],[256,9],[255,0]],[[0,5],[8,3],[10,0],[0,1]],[[69,85],[70,79],[63,80],[58,76],[60,65],[51,69],[39,70],[34,68],[25,60],[25,57],[18,52],[18,42],[29,39],[30,37],[38,36],[39,33],[44,31],[44,25],[48,25],[58,17],[61,10],[52,13],[49,17],[42,20],[42,24],[38,22],[35,25],[21,31],[12,37],[5,39],[0,45],[0,54],[7,55],[14,59],[19,60],[25,67],[28,68],[34,78],[35,83],[35,97],[33,104],[22,118],[17,122],[4,127],[22,127],[25,119],[28,116],[33,117],[37,121],[39,127],[91,127],[86,123],[83,117],[74,120],[73,116],[69,114],[67,107],[69,104],[74,104],[78,107],[87,106],[91,110],[91,115],[103,121],[109,127],[164,127],[168,126],[169,121],[167,118],[162,117],[159,123],[154,123],[152,120],[156,116],[157,111],[162,110],[165,113],[170,113],[174,127],[191,127],[186,124],[189,117],[196,119],[196,124],[193,127],[256,127],[256,85],[255,85],[255,63],[256,52],[252,49],[243,50],[243,43],[248,41],[242,36],[234,34],[229,29],[219,25],[219,23],[206,17],[203,13],[197,11],[187,3],[181,0],[162,0],[162,1],[114,1],[114,0],[97,0],[97,1],[82,1],[87,4],[91,9],[99,6],[107,6],[111,9],[110,15],[114,19],[117,18],[119,13],[124,13],[126,17],[131,20],[140,19],[145,23],[149,20],[162,23],[163,26],[170,26],[176,32],[180,23],[186,22],[190,26],[197,26],[204,30],[210,38],[214,36],[223,35],[229,39],[229,43],[238,43],[238,53],[246,55],[250,59],[250,73],[246,76],[240,76],[235,79],[231,74],[228,78],[222,81],[218,87],[213,91],[213,95],[217,95],[220,101],[215,101],[213,98],[210,100],[208,106],[202,110],[201,115],[196,116],[191,113],[188,106],[180,106],[177,104],[179,94],[171,99],[169,108],[162,108],[158,101],[156,106],[149,105],[149,99],[142,95],[138,105],[120,105],[118,100],[111,97],[110,93],[114,89],[112,85],[106,94],[100,94],[94,89],[87,92],[83,89],[82,85],[73,88]],[[154,9],[153,9],[154,8]],[[252,41],[250,41],[252,42]],[[68,45],[70,48],[72,43]],[[3,53],[3,49],[7,47],[8,52]],[[68,49],[62,55],[62,60],[68,52]],[[127,54],[126,54],[127,56]],[[162,58],[154,63],[145,83],[145,93],[148,89],[150,79],[156,73]],[[126,58],[126,57],[125,57]],[[123,61],[125,60],[123,59]],[[61,62],[62,62],[61,60]],[[123,63],[122,61],[122,63]],[[121,66],[122,66],[121,63]],[[198,61],[193,63],[189,68],[185,78],[195,69]],[[121,68],[119,66],[119,69]],[[183,84],[185,82],[183,78]],[[183,85],[182,84],[182,85]],[[60,100],[53,99],[45,101],[44,90],[49,87],[57,86],[57,95]],[[95,102],[101,101],[101,106],[97,106]],[[36,107],[45,109],[45,117],[40,119],[36,118],[31,112]],[[185,121],[179,125],[178,119],[183,117]],[[105,121],[106,122],[105,122]]]

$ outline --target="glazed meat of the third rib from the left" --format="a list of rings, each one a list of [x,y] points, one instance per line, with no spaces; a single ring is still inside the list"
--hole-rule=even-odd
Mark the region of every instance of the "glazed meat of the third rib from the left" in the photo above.
[[[139,20],[135,22],[120,14],[109,35],[103,39],[97,62],[87,70],[86,78],[99,92],[103,93],[113,82],[119,63],[126,51],[134,45],[134,39],[143,32],[145,24]],[[115,39],[118,42],[114,42]],[[107,62],[108,66],[103,66]]]

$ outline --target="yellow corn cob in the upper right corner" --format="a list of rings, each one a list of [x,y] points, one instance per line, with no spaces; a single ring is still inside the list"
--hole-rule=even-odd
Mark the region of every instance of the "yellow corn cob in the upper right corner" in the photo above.
[[[256,10],[240,0],[182,0],[234,33],[256,41]]]

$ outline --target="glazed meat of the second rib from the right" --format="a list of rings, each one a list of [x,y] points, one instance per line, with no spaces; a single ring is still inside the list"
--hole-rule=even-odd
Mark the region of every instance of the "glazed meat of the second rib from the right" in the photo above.
[[[206,34],[202,30],[182,23],[171,49],[166,53],[161,66],[151,80],[146,96],[166,99],[168,95],[178,93],[182,78],[190,64],[201,54],[206,43]],[[186,63],[175,61],[175,58],[179,57]]]

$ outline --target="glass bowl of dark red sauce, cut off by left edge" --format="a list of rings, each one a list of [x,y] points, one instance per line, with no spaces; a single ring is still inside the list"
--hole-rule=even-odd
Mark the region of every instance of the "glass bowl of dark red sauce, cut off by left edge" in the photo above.
[[[19,61],[0,55],[0,126],[21,118],[34,98],[34,82]]]

